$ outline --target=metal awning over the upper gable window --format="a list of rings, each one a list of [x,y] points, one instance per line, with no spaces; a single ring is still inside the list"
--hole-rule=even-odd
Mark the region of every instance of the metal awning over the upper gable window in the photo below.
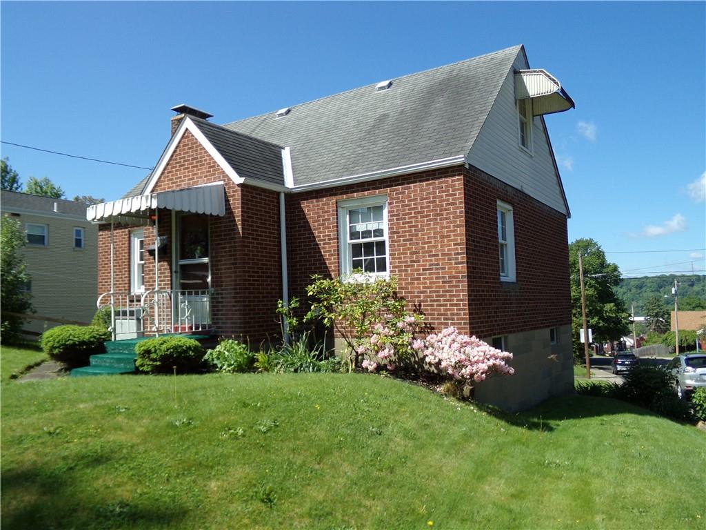
[[[575,108],[561,83],[546,70],[516,70],[515,99],[532,100],[532,115],[552,114]]]

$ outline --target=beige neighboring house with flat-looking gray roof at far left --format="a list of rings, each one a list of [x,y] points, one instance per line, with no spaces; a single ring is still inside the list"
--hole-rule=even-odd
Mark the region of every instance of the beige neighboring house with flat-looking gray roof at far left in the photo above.
[[[0,212],[19,220],[27,235],[23,253],[36,314],[90,322],[97,290],[98,229],[86,220],[85,204],[3,191]],[[28,320],[24,329],[35,335],[57,325]]]

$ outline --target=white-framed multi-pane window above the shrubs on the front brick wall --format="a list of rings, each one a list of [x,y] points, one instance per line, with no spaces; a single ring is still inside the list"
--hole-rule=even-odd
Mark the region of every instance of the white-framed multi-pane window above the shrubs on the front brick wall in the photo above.
[[[356,269],[389,276],[388,199],[365,197],[338,203],[341,274]]]

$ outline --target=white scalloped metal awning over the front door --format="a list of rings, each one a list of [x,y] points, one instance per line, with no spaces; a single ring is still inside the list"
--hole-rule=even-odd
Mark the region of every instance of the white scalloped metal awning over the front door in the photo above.
[[[139,212],[146,213],[154,208],[225,216],[225,189],[222,182],[216,182],[205,186],[126,197],[88,206],[86,218],[92,221],[126,222],[139,218]]]

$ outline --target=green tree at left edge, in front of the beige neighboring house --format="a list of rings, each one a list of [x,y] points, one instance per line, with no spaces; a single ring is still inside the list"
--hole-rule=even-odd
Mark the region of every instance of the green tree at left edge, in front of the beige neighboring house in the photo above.
[[[25,286],[30,275],[20,252],[25,245],[25,233],[20,222],[6,216],[0,218],[0,341],[8,343],[20,336],[24,320],[8,315],[32,312],[30,293]]]

